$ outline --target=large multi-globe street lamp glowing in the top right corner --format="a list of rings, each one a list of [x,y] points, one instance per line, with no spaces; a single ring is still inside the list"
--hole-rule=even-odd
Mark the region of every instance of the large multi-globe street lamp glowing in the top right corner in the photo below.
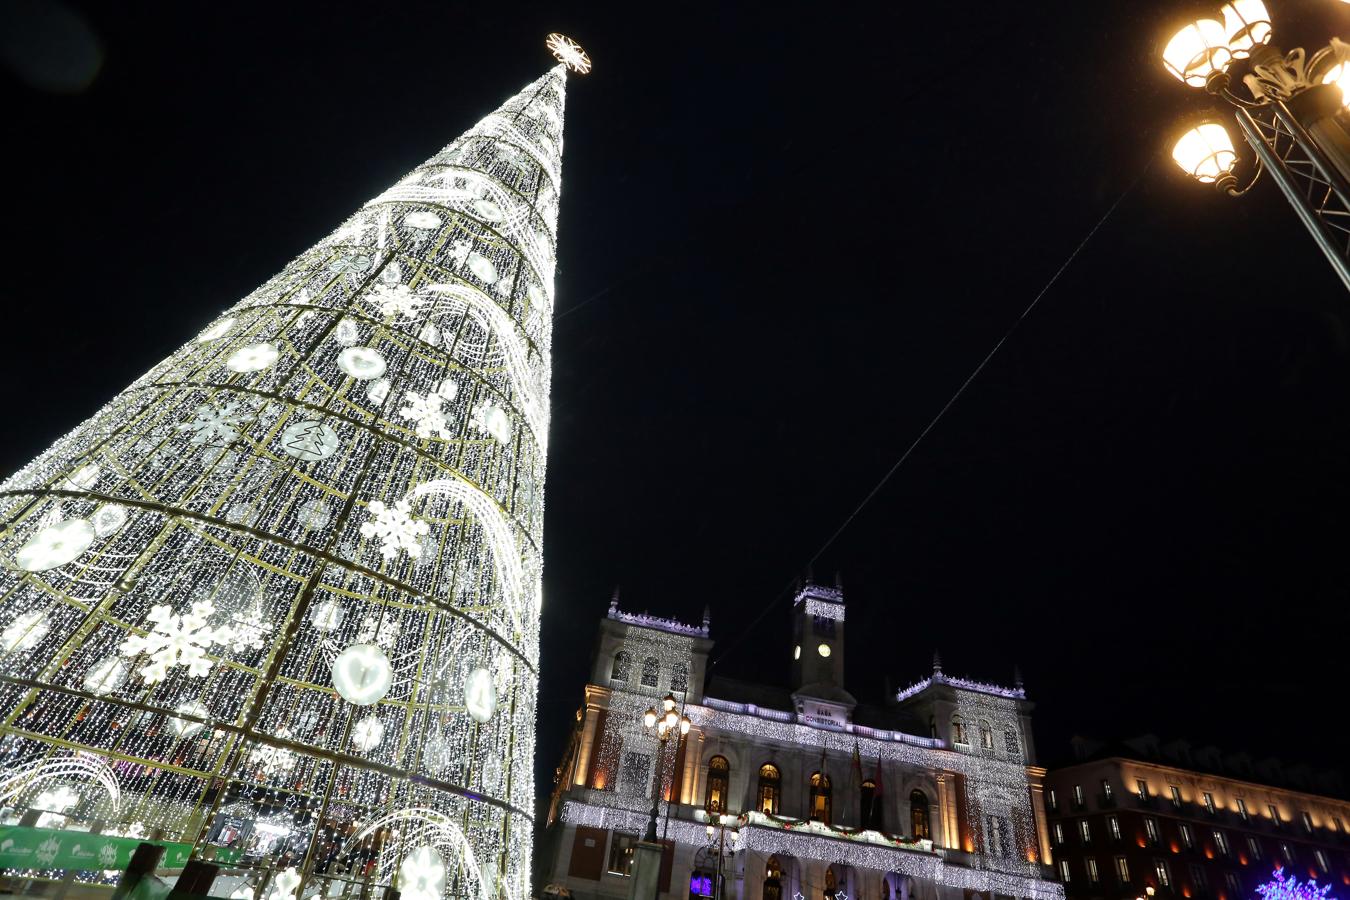
[[[1301,47],[1285,54],[1270,42],[1274,26],[1264,0],[1203,5],[1200,18],[1170,35],[1162,65],[1234,108],[1256,162],[1241,184],[1233,138],[1212,116],[1177,140],[1172,158],[1231,197],[1269,173],[1350,289],[1350,45],[1331,38],[1311,57]],[[1239,72],[1246,96],[1233,89]]]

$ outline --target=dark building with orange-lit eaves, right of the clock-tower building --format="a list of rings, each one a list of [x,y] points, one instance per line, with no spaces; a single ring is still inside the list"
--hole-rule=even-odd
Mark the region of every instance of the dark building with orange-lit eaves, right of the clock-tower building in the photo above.
[[[1334,893],[1350,885],[1339,776],[1153,735],[1073,743],[1077,761],[1045,781],[1069,900],[1250,900],[1277,866]]]

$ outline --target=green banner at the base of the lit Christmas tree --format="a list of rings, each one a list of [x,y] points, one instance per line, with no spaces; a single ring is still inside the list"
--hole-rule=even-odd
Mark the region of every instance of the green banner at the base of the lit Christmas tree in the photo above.
[[[165,849],[161,869],[181,869],[192,857],[190,843],[117,838],[88,831],[58,831],[0,826],[0,869],[126,869],[140,843]],[[236,862],[240,850],[216,847],[216,862]]]

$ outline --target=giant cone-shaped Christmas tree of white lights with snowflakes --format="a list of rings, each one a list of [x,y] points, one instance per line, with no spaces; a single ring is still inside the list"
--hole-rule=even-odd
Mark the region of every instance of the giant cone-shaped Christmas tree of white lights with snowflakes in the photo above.
[[[549,47],[0,484],[0,822],[230,846],[278,897],[367,870],[528,896],[563,96],[589,67]]]

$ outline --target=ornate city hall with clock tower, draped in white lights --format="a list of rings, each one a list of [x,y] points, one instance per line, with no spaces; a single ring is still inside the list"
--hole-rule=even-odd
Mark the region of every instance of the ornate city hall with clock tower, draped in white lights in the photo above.
[[[842,590],[806,584],[791,615],[790,684],[705,683],[706,613],[682,623],[616,596],[558,769],[545,892],[628,897],[655,792],[662,897],[1061,900],[1021,684],[934,658],[918,684],[860,704]],[[666,707],[686,722],[662,739],[644,714]]]

